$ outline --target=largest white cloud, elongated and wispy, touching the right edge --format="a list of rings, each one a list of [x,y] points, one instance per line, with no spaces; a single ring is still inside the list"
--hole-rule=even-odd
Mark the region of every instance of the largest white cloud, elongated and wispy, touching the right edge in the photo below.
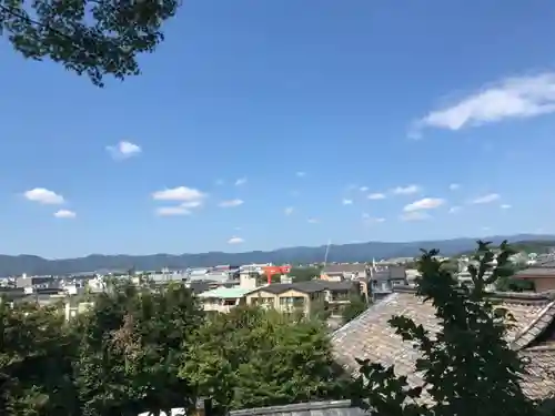
[[[508,78],[483,88],[462,101],[430,112],[413,126],[460,130],[506,119],[527,119],[555,112],[555,73]]]

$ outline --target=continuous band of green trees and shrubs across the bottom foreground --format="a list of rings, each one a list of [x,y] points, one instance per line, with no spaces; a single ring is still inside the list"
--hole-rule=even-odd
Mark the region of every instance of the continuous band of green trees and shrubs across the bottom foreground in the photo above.
[[[493,268],[493,253],[480,243],[480,266],[463,287],[435,251],[418,261],[418,294],[433,302],[440,332],[432,336],[404,316],[391,325],[420,349],[425,386],[367,361],[359,378],[343,374],[317,314],[238,307],[204,316],[182,285],[123,282],[69,323],[56,306],[0,305],[0,414],[137,416],[192,408],[202,397],[228,409],[351,398],[380,415],[536,414],[521,389],[524,367],[505,341],[503,311],[485,293],[512,273],[512,252],[502,250]]]

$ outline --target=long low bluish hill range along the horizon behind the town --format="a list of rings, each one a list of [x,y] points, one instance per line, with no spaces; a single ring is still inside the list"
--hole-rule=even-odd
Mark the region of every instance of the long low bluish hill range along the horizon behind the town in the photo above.
[[[372,258],[390,258],[418,255],[420,248],[440,248],[444,255],[454,255],[472,250],[477,239],[453,239],[442,241],[420,241],[405,243],[367,242],[359,244],[332,245],[327,260],[330,262],[365,262]],[[508,235],[490,236],[483,240],[496,244],[503,240],[533,243],[539,247],[542,242],[554,245],[553,235]],[[314,263],[322,262],[325,246],[319,247],[287,247],[270,252],[223,253],[210,252],[200,254],[152,254],[152,255],[101,255],[92,254],[87,257],[47,260],[34,255],[0,255],[0,276],[16,274],[65,274],[77,272],[94,272],[101,270],[160,270],[162,267],[186,268],[194,266],[210,266],[216,264],[249,264],[249,263]]]

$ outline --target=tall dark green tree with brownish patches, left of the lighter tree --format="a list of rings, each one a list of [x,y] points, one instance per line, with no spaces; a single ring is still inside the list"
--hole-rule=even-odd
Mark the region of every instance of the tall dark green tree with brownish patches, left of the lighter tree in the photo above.
[[[75,374],[84,416],[115,416],[122,409],[137,416],[195,402],[178,367],[202,314],[182,285],[153,292],[118,284],[78,322]]]

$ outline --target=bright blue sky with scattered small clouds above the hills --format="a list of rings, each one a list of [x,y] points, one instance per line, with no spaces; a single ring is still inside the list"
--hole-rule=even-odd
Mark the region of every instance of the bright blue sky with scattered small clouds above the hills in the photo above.
[[[190,0],[102,90],[2,40],[0,253],[555,232],[553,21],[546,0]]]

